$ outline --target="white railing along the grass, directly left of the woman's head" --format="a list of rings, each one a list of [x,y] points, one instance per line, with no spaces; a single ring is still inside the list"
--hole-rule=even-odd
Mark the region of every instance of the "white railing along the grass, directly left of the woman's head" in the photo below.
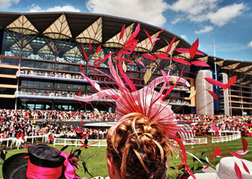
[[[54,146],[55,145],[71,145],[71,146],[82,146],[84,144],[83,139],[68,139],[68,138],[54,138],[53,141]],[[106,139],[88,139],[88,146],[93,147],[106,147],[107,146],[107,140]]]

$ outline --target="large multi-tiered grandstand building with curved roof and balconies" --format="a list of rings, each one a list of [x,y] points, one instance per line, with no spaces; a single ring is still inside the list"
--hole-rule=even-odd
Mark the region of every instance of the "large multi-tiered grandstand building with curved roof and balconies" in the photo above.
[[[97,58],[104,58],[110,52],[116,51],[129,38],[136,25],[140,23],[141,30],[136,37],[139,39],[136,55],[141,53],[165,53],[175,34],[162,31],[159,27],[142,22],[112,17],[100,14],[85,14],[72,12],[56,13],[13,13],[0,12],[0,108],[35,109],[35,110],[91,110],[88,104],[80,104],[73,99],[74,95],[90,95],[94,89],[79,72],[82,66],[94,66]],[[120,31],[125,25],[125,33],[119,41]],[[144,29],[161,40],[155,41],[154,46],[145,45],[148,42]],[[101,51],[96,49],[101,45]],[[86,54],[83,53],[82,46]],[[179,36],[170,53],[176,55],[175,48],[189,48],[191,45]],[[85,55],[90,56],[87,61]],[[184,54],[185,59],[187,54]],[[190,88],[181,86],[175,88],[168,96],[167,102],[178,113],[198,114],[250,114],[252,109],[252,63],[226,60],[218,57],[196,55],[198,60],[207,62],[211,68],[185,67],[183,78],[190,83]],[[148,65],[150,61],[142,58]],[[176,62],[172,62],[176,63]],[[161,67],[165,69],[170,62],[163,61]],[[139,88],[144,86],[144,69],[136,64],[126,64],[127,71],[131,73],[134,84]],[[99,67],[103,72],[109,73],[108,66]],[[171,74],[178,75],[180,66],[171,70]],[[217,76],[215,77],[215,71]],[[110,79],[104,75],[84,69],[87,76],[93,75],[97,83],[113,87]],[[207,105],[213,98],[208,93],[189,98],[193,91],[200,91],[204,85],[209,85],[201,76],[218,78],[226,83],[237,75],[236,84],[225,92],[215,86],[209,86],[218,96],[219,100]],[[153,74],[153,78],[160,76],[160,71]],[[202,100],[207,99],[207,100]],[[108,99],[106,102],[114,103]],[[93,102],[97,108],[113,111],[112,107]],[[181,108],[181,106],[184,106]],[[206,106],[201,109],[202,106]]]

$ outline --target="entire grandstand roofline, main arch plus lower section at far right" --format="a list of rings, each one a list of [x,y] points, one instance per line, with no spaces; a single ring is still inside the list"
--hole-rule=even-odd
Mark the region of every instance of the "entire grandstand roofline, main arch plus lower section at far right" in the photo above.
[[[76,13],[76,12],[36,12],[36,13],[15,13],[15,12],[0,12],[0,27],[15,33],[30,34],[31,36],[40,35],[51,39],[60,39],[65,41],[75,41],[78,43],[102,44],[104,47],[116,47],[118,44],[118,36],[125,25],[125,34],[121,43],[128,38],[127,35],[134,31],[139,23],[141,26],[140,32],[137,35],[139,45],[144,44],[147,35],[144,29],[150,36],[157,35],[162,29],[139,22],[132,19],[115,17],[103,14],[92,13]],[[157,37],[157,36],[156,36]],[[163,31],[158,34],[161,40],[154,44],[155,51],[165,52],[167,42],[175,37],[175,34],[169,31]],[[148,40],[148,39],[147,39]],[[172,49],[189,48],[191,45],[179,36],[176,36],[175,43]],[[177,46],[176,46],[177,45]],[[152,47],[146,47],[146,50],[153,50]],[[205,53],[204,53],[205,54]],[[252,62],[243,62],[236,60],[227,60],[214,56],[204,57],[196,56],[199,60],[203,60],[208,64],[218,65],[218,69],[231,71],[231,74],[241,73],[252,75]]]

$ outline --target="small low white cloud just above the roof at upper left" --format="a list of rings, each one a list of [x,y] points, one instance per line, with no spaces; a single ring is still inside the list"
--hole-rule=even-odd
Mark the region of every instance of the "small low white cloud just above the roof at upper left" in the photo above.
[[[34,4],[31,6],[30,12],[55,12],[55,11],[71,11],[71,12],[80,12],[79,9],[74,8],[73,6],[55,6],[52,8],[48,8],[46,10],[41,9],[39,6],[35,6]]]

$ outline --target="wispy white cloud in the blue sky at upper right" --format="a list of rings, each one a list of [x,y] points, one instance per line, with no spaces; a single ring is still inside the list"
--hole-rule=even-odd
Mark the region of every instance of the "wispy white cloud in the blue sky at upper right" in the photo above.
[[[243,3],[235,3],[219,8],[218,3],[220,3],[218,0],[177,0],[171,5],[168,4],[168,8],[181,12],[177,18],[181,18],[183,15],[184,18],[190,21],[210,21],[212,24],[218,26],[227,24],[235,17],[241,15],[247,8]]]

